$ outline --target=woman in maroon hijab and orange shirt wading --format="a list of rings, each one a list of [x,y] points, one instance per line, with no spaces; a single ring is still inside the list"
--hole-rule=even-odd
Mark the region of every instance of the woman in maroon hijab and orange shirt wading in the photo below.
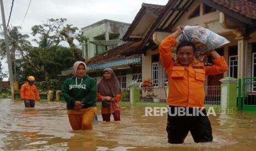
[[[120,120],[119,100],[122,90],[115,73],[111,68],[105,68],[103,76],[97,85],[97,99],[102,101],[101,114],[103,121],[110,121],[113,114],[114,120]]]

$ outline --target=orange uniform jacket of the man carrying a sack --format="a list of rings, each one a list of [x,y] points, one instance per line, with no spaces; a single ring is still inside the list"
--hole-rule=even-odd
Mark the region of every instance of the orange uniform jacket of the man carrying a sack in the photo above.
[[[223,56],[214,59],[213,66],[204,66],[203,62],[193,62],[189,66],[175,66],[171,48],[176,38],[168,36],[159,45],[160,59],[168,77],[167,104],[182,107],[204,107],[205,75],[224,73],[228,70]]]

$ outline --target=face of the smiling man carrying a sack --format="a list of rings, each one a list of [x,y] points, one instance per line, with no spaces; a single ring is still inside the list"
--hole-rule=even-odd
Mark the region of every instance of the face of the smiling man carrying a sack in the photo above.
[[[194,51],[192,46],[184,46],[179,48],[177,61],[181,66],[188,66],[194,61]]]

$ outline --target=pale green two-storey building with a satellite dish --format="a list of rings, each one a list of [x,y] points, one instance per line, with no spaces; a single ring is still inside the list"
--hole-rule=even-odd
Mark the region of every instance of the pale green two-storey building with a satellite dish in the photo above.
[[[90,59],[106,50],[116,48],[124,42],[121,40],[130,24],[113,20],[101,20],[81,28],[85,37],[83,57]]]

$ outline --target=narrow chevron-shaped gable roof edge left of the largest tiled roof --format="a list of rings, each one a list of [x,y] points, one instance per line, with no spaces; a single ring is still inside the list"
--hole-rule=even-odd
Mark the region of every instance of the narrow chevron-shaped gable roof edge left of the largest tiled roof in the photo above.
[[[124,41],[128,41],[128,38],[130,36],[130,33],[132,33],[133,28],[138,24],[138,22],[140,21],[141,17],[143,16],[144,12],[146,9],[149,9],[152,13],[154,13],[155,15],[159,16],[159,14],[162,12],[162,10],[164,9],[164,5],[155,5],[155,4],[146,4],[143,3],[141,5],[141,8],[139,10],[139,12],[137,13],[137,15],[135,16],[132,24],[130,24],[126,34],[124,34],[123,36],[123,40]]]

